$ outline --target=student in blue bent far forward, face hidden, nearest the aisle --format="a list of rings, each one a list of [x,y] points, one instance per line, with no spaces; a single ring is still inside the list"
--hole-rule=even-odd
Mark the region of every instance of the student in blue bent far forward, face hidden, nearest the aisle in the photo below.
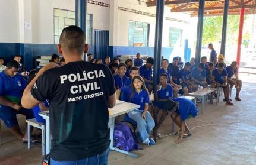
[[[172,119],[176,125],[180,128],[175,135],[178,135],[176,143],[181,143],[182,138],[187,138],[191,136],[188,125],[186,124],[186,119],[197,116],[197,106],[195,103],[186,98],[174,98],[172,101]],[[176,109],[176,111],[175,111]]]

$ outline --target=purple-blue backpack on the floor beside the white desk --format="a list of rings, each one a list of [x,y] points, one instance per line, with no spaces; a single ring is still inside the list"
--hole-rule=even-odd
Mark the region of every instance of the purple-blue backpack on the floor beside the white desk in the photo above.
[[[116,124],[114,131],[114,144],[115,147],[124,151],[138,150],[138,141],[135,140],[131,128],[125,122]]]

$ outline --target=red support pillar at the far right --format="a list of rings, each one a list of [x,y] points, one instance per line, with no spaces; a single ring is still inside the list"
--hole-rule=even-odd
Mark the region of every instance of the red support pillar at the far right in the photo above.
[[[236,61],[238,62],[238,65],[240,65],[241,44],[242,44],[243,27],[244,27],[244,15],[245,15],[245,9],[242,8],[241,12],[240,12],[238,51],[237,51],[237,56],[236,56]]]

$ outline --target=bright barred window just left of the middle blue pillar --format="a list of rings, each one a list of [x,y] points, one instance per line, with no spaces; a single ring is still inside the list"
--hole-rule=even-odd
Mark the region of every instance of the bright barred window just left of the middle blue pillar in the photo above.
[[[149,24],[129,21],[129,46],[148,47]]]

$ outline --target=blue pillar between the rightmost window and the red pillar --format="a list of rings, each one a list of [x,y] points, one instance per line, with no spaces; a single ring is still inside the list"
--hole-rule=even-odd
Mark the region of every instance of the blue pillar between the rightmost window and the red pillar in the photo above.
[[[198,65],[201,59],[201,47],[203,38],[203,24],[204,24],[204,1],[199,0],[198,7],[198,22],[197,22],[197,44],[195,47],[195,64]]]

